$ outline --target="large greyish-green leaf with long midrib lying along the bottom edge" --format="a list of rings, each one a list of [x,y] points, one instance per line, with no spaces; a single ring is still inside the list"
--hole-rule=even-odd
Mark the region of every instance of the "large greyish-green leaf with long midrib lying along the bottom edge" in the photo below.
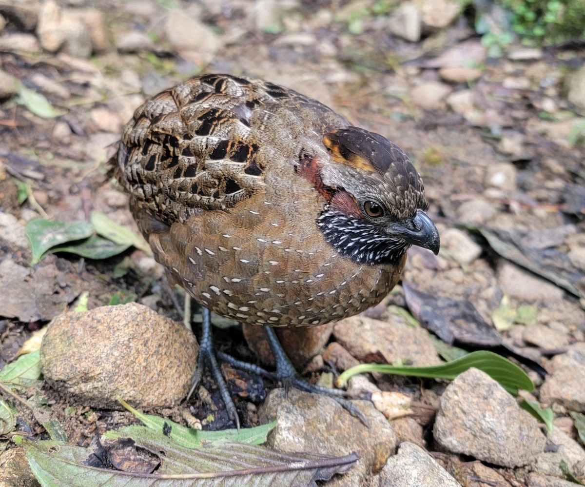
[[[126,428],[127,429],[127,428]],[[132,437],[108,431],[101,437],[106,451],[123,445],[146,450],[160,462],[153,474],[88,467],[90,451],[61,441],[30,441],[15,437],[26,452],[30,469],[43,486],[68,487],[216,487],[233,485],[314,485],[345,472],[359,458],[277,452],[257,445],[222,442],[201,448],[197,454],[177,445],[162,433],[146,427],[133,427]],[[129,452],[131,456],[132,453]],[[131,466],[131,465],[130,465]]]

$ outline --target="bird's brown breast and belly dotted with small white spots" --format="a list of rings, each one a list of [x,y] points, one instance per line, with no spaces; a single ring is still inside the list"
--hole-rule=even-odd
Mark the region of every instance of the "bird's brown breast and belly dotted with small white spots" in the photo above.
[[[171,280],[203,306],[250,324],[319,325],[377,304],[394,287],[402,266],[356,265],[325,242],[315,190],[299,193],[288,181],[281,198],[259,196],[149,236]]]

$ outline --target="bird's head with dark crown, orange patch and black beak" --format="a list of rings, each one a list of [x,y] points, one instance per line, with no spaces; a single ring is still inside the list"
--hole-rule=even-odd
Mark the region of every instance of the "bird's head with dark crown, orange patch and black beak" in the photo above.
[[[317,224],[329,244],[367,265],[396,264],[411,245],[439,252],[421,176],[402,149],[357,127],[323,142],[331,157],[319,164],[319,182],[329,203]]]

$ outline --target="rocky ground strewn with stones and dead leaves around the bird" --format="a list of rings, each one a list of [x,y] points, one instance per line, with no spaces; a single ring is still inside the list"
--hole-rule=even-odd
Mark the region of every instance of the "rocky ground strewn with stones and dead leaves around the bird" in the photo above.
[[[88,221],[92,211],[136,228],[126,196],[105,177],[123,124],[160,90],[221,72],[291,87],[400,145],[422,174],[441,232],[439,255],[412,249],[401,286],[383,306],[322,331],[308,365],[299,364],[306,376],[326,383],[331,367],[440,363],[440,337],[463,348],[514,351],[533,365],[525,368],[536,390],[524,397],[554,415],[547,432],[476,369],[450,383],[375,374],[350,380],[350,395],[400,393],[404,405],[387,419],[375,400],[360,401],[366,428],[326,397],[297,390],[285,397],[282,389],[266,397],[259,379],[228,368],[243,425],[277,419],[268,442],[277,450],[361,451],[327,485],[585,481],[585,431],[579,440],[574,414],[585,413],[583,46],[512,44],[488,57],[472,12],[449,0],[398,7],[367,0],[2,0],[0,14],[0,367],[59,317],[53,341],[43,342],[54,353],[44,354],[42,366],[46,379],[69,388],[64,394],[46,384],[43,394],[70,444],[87,447],[132,422],[129,413],[112,411],[117,395],[183,424],[233,426],[211,379],[177,405],[197,344],[167,319],[181,320],[181,299],[146,249],[103,260],[50,254],[30,267],[25,235],[33,218]],[[90,311],[80,324],[63,313],[84,291]],[[112,297],[159,314],[134,304],[91,311]],[[250,331],[225,325],[220,347],[254,360],[242,345]],[[142,348],[128,356],[121,344],[136,337],[144,338]],[[534,371],[535,362],[546,375]],[[75,380],[87,376],[97,382]],[[16,430],[45,438],[29,416],[18,406]],[[0,439],[13,436],[3,433]],[[8,479],[22,475],[26,460],[21,448],[1,444],[0,485],[35,485]]]

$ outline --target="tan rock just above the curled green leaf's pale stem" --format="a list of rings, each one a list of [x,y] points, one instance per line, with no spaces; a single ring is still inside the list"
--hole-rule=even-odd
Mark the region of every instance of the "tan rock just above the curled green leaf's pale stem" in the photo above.
[[[335,324],[333,334],[360,361],[421,366],[441,363],[429,332],[421,327],[409,328],[396,315],[390,315],[387,321],[363,316],[345,318]]]

